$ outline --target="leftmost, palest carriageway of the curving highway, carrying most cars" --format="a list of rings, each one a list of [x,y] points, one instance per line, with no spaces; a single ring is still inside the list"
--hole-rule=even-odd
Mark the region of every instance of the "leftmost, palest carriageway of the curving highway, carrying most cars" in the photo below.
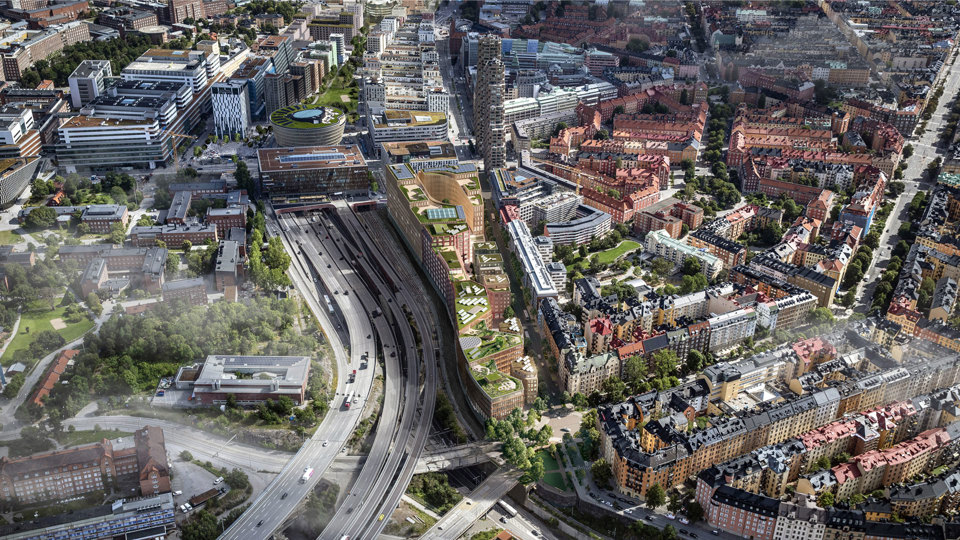
[[[315,268],[324,268],[328,264],[319,256],[313,258],[312,262],[296,256],[300,249],[295,241],[291,241],[294,230],[288,222],[292,220],[284,219],[283,223],[279,222],[272,209],[268,209],[268,214],[268,229],[272,234],[279,233],[278,236],[283,240],[288,252],[294,254],[290,277],[327,334],[336,357],[339,377],[330,411],[313,437],[304,443],[250,508],[224,532],[221,538],[225,539],[266,538],[281,528],[356,429],[363,409],[360,406],[362,401],[356,406],[345,408],[342,406],[344,396],[349,392],[360,392],[361,396],[368,396],[373,384],[372,369],[358,369],[357,380],[353,383],[348,382],[349,378],[346,376],[360,366],[364,352],[376,354],[370,313],[364,311],[364,306],[356,294],[339,294],[350,291],[343,276],[336,272],[316,272]],[[333,291],[338,294],[331,294],[330,297],[339,309],[335,317],[331,318],[326,303],[320,299],[323,294]],[[344,347],[341,332],[338,332],[344,330],[344,325],[348,334],[349,350]],[[314,473],[308,481],[301,483],[300,479],[307,468],[313,468]]]

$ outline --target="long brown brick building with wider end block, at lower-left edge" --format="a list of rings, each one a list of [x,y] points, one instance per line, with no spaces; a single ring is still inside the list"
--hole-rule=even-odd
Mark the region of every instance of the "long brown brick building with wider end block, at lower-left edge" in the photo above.
[[[128,438],[127,438],[128,439]],[[163,430],[147,426],[133,444],[109,440],[21,458],[0,458],[0,500],[29,504],[136,486],[140,495],[170,491]]]

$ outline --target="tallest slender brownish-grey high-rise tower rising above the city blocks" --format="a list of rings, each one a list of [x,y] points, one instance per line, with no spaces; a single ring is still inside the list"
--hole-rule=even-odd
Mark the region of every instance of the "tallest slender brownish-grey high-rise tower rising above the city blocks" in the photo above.
[[[500,37],[480,38],[477,53],[477,85],[473,92],[473,116],[477,146],[483,166],[490,171],[506,165],[507,143],[503,125],[503,61]]]

